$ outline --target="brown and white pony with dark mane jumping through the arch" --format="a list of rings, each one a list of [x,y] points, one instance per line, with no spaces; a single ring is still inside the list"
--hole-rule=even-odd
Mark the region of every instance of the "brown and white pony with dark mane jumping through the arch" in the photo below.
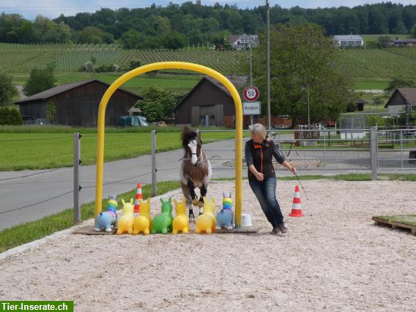
[[[193,207],[202,207],[204,197],[207,195],[207,187],[211,180],[212,169],[207,155],[202,152],[202,141],[198,130],[184,127],[181,133],[182,148],[184,157],[180,166],[180,187],[184,197],[187,198],[187,207],[189,209],[189,220],[194,221]],[[195,189],[200,189],[200,198],[196,196]]]

